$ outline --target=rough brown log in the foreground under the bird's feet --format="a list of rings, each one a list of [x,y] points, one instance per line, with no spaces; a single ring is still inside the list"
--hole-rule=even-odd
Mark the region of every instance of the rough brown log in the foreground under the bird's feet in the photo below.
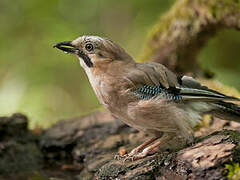
[[[26,128],[23,115],[0,119],[0,179],[227,179],[240,161],[240,124],[219,119],[201,127],[193,144],[133,162],[114,157],[149,137],[110,113],[66,119],[40,133]]]

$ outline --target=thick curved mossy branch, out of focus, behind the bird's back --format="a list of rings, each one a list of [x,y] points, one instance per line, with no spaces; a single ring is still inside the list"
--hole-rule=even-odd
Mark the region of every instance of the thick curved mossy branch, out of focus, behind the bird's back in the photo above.
[[[199,51],[223,28],[240,29],[239,1],[178,0],[151,30],[140,59],[196,73]]]

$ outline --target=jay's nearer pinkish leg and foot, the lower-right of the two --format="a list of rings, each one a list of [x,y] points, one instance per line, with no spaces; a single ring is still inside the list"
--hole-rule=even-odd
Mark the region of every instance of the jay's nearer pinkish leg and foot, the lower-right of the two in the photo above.
[[[166,143],[169,139],[171,139],[171,136],[166,134],[161,139],[159,139],[159,141],[157,141],[154,144],[144,148],[142,150],[142,152],[136,153],[136,154],[134,154],[132,156],[126,157],[124,159],[124,161],[128,161],[128,160],[135,161],[135,160],[138,160],[138,159],[143,159],[143,158],[145,158],[148,155],[155,154],[156,152],[158,152],[158,146],[160,146],[161,144]]]

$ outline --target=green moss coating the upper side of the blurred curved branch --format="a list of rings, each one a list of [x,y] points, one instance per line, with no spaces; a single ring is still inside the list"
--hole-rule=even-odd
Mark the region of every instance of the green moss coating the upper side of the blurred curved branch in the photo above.
[[[194,9],[198,7],[199,12],[204,13],[203,16],[197,16]],[[158,23],[153,26],[149,32],[148,43],[144,48],[143,54],[139,57],[141,62],[149,60],[158,49],[165,46],[169,39],[172,38],[172,32],[169,30],[171,25],[176,21],[184,21],[186,23],[186,31],[189,29],[188,36],[197,36],[203,29],[199,29],[198,21],[202,21],[206,25],[206,18],[209,24],[216,24],[229,14],[240,13],[240,1],[237,0],[179,0],[172,8],[160,17]],[[201,22],[200,22],[201,24]],[[195,26],[196,25],[196,26]],[[184,32],[184,30],[183,30]],[[161,39],[160,39],[161,38]],[[163,39],[163,40],[162,40]],[[173,38],[174,39],[174,38]],[[192,38],[193,39],[193,38]],[[181,42],[175,42],[181,43]]]

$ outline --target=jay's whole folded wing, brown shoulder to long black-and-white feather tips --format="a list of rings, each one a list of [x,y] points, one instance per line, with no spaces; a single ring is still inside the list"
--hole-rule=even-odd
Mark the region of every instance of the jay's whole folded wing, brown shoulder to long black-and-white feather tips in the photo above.
[[[202,86],[192,77],[177,77],[158,63],[137,64],[128,79],[133,84],[133,92],[141,99],[161,96],[171,100],[240,101]]]

